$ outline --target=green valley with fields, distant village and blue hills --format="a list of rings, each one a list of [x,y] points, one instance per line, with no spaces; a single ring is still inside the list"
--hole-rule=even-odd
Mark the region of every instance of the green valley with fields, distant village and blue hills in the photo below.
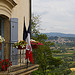
[[[63,33],[45,33],[48,36],[47,41],[54,43],[51,47],[53,56],[55,58],[61,58],[64,62],[59,68],[70,69],[75,75],[75,34],[63,34]]]

